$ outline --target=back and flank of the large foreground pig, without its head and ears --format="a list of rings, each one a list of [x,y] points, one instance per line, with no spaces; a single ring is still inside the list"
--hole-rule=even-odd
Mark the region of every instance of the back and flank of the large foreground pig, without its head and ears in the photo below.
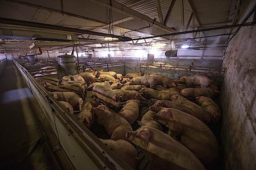
[[[152,159],[159,159],[159,169],[170,170],[205,170],[199,159],[185,146],[160,130],[150,128],[148,151]],[[163,161],[164,160],[164,161]]]

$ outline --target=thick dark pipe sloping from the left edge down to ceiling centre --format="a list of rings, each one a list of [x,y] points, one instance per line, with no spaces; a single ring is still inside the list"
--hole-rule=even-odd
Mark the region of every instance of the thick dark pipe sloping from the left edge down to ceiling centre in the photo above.
[[[76,28],[69,28],[69,27],[61,27],[57,25],[50,25],[50,24],[42,24],[37,22],[29,22],[29,21],[21,21],[21,20],[13,20],[9,18],[0,18],[0,23],[2,24],[12,24],[12,25],[22,25],[27,27],[37,27],[37,28],[44,28],[44,29],[53,29],[53,30],[59,30],[59,31],[67,31],[72,33],[80,33],[80,34],[92,34],[97,36],[106,36],[106,37],[112,37],[112,38],[118,38],[122,41],[130,41],[131,38],[125,37],[125,36],[117,36],[113,34],[105,34],[105,33],[98,33],[94,31],[87,31],[82,29],[76,29]]]

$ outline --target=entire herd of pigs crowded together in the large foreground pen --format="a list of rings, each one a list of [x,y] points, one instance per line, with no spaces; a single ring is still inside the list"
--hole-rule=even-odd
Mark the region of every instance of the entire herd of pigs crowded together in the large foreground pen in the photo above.
[[[100,140],[133,169],[140,161],[136,148],[150,159],[151,170],[205,170],[219,165],[220,147],[210,128],[221,121],[221,109],[213,101],[219,90],[206,76],[172,80],[162,74],[123,76],[101,70],[62,80],[36,80],[70,113],[77,113],[87,128],[95,122],[103,126],[111,139]],[[83,105],[88,90],[95,100]],[[134,131],[131,125],[141,114],[140,102],[149,99],[154,104]]]

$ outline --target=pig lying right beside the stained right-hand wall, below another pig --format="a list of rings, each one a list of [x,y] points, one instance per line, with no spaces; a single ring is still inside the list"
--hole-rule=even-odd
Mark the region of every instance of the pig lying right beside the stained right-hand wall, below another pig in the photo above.
[[[211,123],[216,124],[221,121],[221,108],[211,98],[199,96],[196,100],[201,107],[210,113]]]

